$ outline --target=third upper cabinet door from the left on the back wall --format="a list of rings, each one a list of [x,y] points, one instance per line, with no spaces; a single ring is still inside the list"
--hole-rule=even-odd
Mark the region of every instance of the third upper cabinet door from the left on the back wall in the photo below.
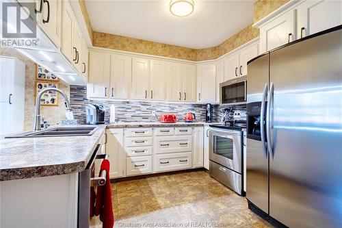
[[[132,58],[132,89],[131,99],[148,99],[150,60]]]

